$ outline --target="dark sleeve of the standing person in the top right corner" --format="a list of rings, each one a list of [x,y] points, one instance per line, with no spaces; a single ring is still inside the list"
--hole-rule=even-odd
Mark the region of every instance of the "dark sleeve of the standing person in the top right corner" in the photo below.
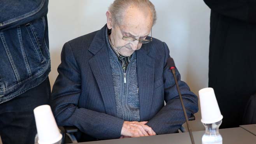
[[[256,0],[203,0],[221,15],[256,24]]]

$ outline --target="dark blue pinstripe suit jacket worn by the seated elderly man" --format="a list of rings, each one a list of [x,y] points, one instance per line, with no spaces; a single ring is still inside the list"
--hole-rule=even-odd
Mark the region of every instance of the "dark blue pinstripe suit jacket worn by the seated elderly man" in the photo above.
[[[114,139],[120,137],[123,120],[116,117],[105,28],[65,43],[51,105],[58,125],[76,126],[97,139]],[[172,73],[165,69],[167,45],[153,38],[136,54],[140,120],[149,121],[157,134],[176,132],[185,118]],[[197,96],[179,72],[176,76],[188,115],[196,113]]]

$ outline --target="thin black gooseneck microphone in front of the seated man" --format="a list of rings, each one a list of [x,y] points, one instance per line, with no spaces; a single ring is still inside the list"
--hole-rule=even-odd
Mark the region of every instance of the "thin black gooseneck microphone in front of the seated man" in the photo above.
[[[183,112],[184,112],[184,116],[186,118],[186,123],[187,123],[188,131],[189,131],[189,136],[190,136],[192,144],[195,144],[191,129],[190,129],[189,124],[188,124],[188,116],[187,116],[186,109],[185,109],[185,106],[184,106],[184,103],[183,103],[183,100],[182,100],[182,97],[181,97],[181,91],[179,89],[179,85],[178,85],[177,78],[176,78],[176,75],[175,75],[174,60],[171,57],[167,59],[167,67],[170,68],[170,70],[172,71],[172,74],[174,75],[175,84],[176,84],[176,87],[177,87],[177,91],[179,93],[179,98],[181,100],[181,105],[182,105],[182,109],[183,109]]]

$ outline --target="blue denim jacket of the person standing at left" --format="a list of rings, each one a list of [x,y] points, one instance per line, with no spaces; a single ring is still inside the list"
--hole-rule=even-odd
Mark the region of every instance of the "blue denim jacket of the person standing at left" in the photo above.
[[[0,104],[38,86],[51,70],[48,0],[0,0]]]

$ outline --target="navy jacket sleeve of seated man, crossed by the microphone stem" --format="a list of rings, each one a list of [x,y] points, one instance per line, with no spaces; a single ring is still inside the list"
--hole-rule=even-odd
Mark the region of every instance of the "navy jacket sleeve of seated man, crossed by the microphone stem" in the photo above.
[[[167,58],[170,57],[168,47],[163,43],[165,49],[165,65]],[[181,81],[181,75],[175,69],[177,81],[181,91],[182,99],[186,108],[188,117],[198,111],[198,98],[192,93],[188,85]],[[182,110],[181,101],[175,85],[175,80],[170,69],[163,70],[164,94],[166,105],[146,124],[151,127],[156,134],[170,134],[177,132],[186,119]]]

